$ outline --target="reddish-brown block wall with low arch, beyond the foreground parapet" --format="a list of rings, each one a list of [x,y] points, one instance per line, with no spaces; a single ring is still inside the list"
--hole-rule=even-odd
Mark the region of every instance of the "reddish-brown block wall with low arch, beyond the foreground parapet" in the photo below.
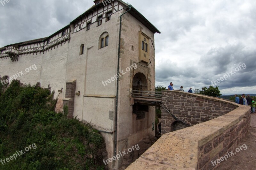
[[[220,98],[180,91],[163,91],[162,103],[173,115],[189,125],[209,121],[237,108],[235,103]],[[162,108],[163,134],[175,129],[173,122],[175,119],[172,115]],[[180,129],[185,128],[182,124],[178,125]]]

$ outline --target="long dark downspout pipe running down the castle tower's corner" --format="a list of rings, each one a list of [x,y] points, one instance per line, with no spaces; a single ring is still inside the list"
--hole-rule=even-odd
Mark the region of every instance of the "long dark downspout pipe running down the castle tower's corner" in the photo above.
[[[122,16],[124,14],[126,14],[127,12],[129,12],[132,9],[132,5],[128,5],[129,10],[124,12],[123,14],[120,15],[120,25],[119,25],[119,43],[118,43],[118,59],[117,59],[117,74],[119,71],[119,59],[120,59],[120,44],[121,44],[121,26],[122,26]],[[115,152],[114,155],[116,155],[116,142],[117,142],[117,103],[118,103],[118,81],[119,81],[119,77],[117,78],[117,82],[116,82],[116,116],[115,116]]]

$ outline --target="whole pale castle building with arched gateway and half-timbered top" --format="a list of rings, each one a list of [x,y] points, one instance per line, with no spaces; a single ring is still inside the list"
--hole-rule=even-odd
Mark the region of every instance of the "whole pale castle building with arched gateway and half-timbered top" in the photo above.
[[[68,105],[69,118],[98,129],[111,158],[155,136],[155,108],[134,103],[131,92],[155,91],[154,34],[160,32],[121,0],[94,3],[49,37],[0,48],[0,75],[9,77],[7,84],[16,77],[50,84],[58,97],[56,110]],[[108,166],[118,169],[122,160]]]

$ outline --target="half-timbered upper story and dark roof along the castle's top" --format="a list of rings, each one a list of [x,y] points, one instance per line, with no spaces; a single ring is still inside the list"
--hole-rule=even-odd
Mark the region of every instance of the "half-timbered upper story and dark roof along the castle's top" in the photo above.
[[[94,0],[93,2],[95,4],[90,9],[49,37],[11,44],[0,48],[0,60],[11,59],[12,62],[15,62],[18,61],[20,56],[37,55],[47,52],[52,48],[58,48],[62,46],[63,43],[69,43],[71,34],[77,33],[83,29],[89,31],[92,24],[102,26],[104,22],[108,22],[111,19],[111,15],[123,9],[128,10],[129,7],[131,7],[129,12],[132,16],[147,26],[153,33],[160,33],[155,26],[130,4],[126,4],[121,0]]]

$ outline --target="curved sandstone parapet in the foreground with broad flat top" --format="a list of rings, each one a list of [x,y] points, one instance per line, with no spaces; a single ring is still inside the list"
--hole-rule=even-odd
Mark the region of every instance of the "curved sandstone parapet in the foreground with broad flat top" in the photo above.
[[[220,106],[225,104],[225,106],[232,105],[236,108],[207,122],[162,135],[127,170],[213,169],[219,164],[213,166],[211,161],[220,159],[227,152],[234,151],[244,138],[250,127],[250,107],[197,94],[178,94],[182,94],[181,97],[185,98],[184,95],[207,98],[207,100],[219,102]],[[177,100],[183,100],[181,97]],[[207,102],[202,100],[200,103]]]

